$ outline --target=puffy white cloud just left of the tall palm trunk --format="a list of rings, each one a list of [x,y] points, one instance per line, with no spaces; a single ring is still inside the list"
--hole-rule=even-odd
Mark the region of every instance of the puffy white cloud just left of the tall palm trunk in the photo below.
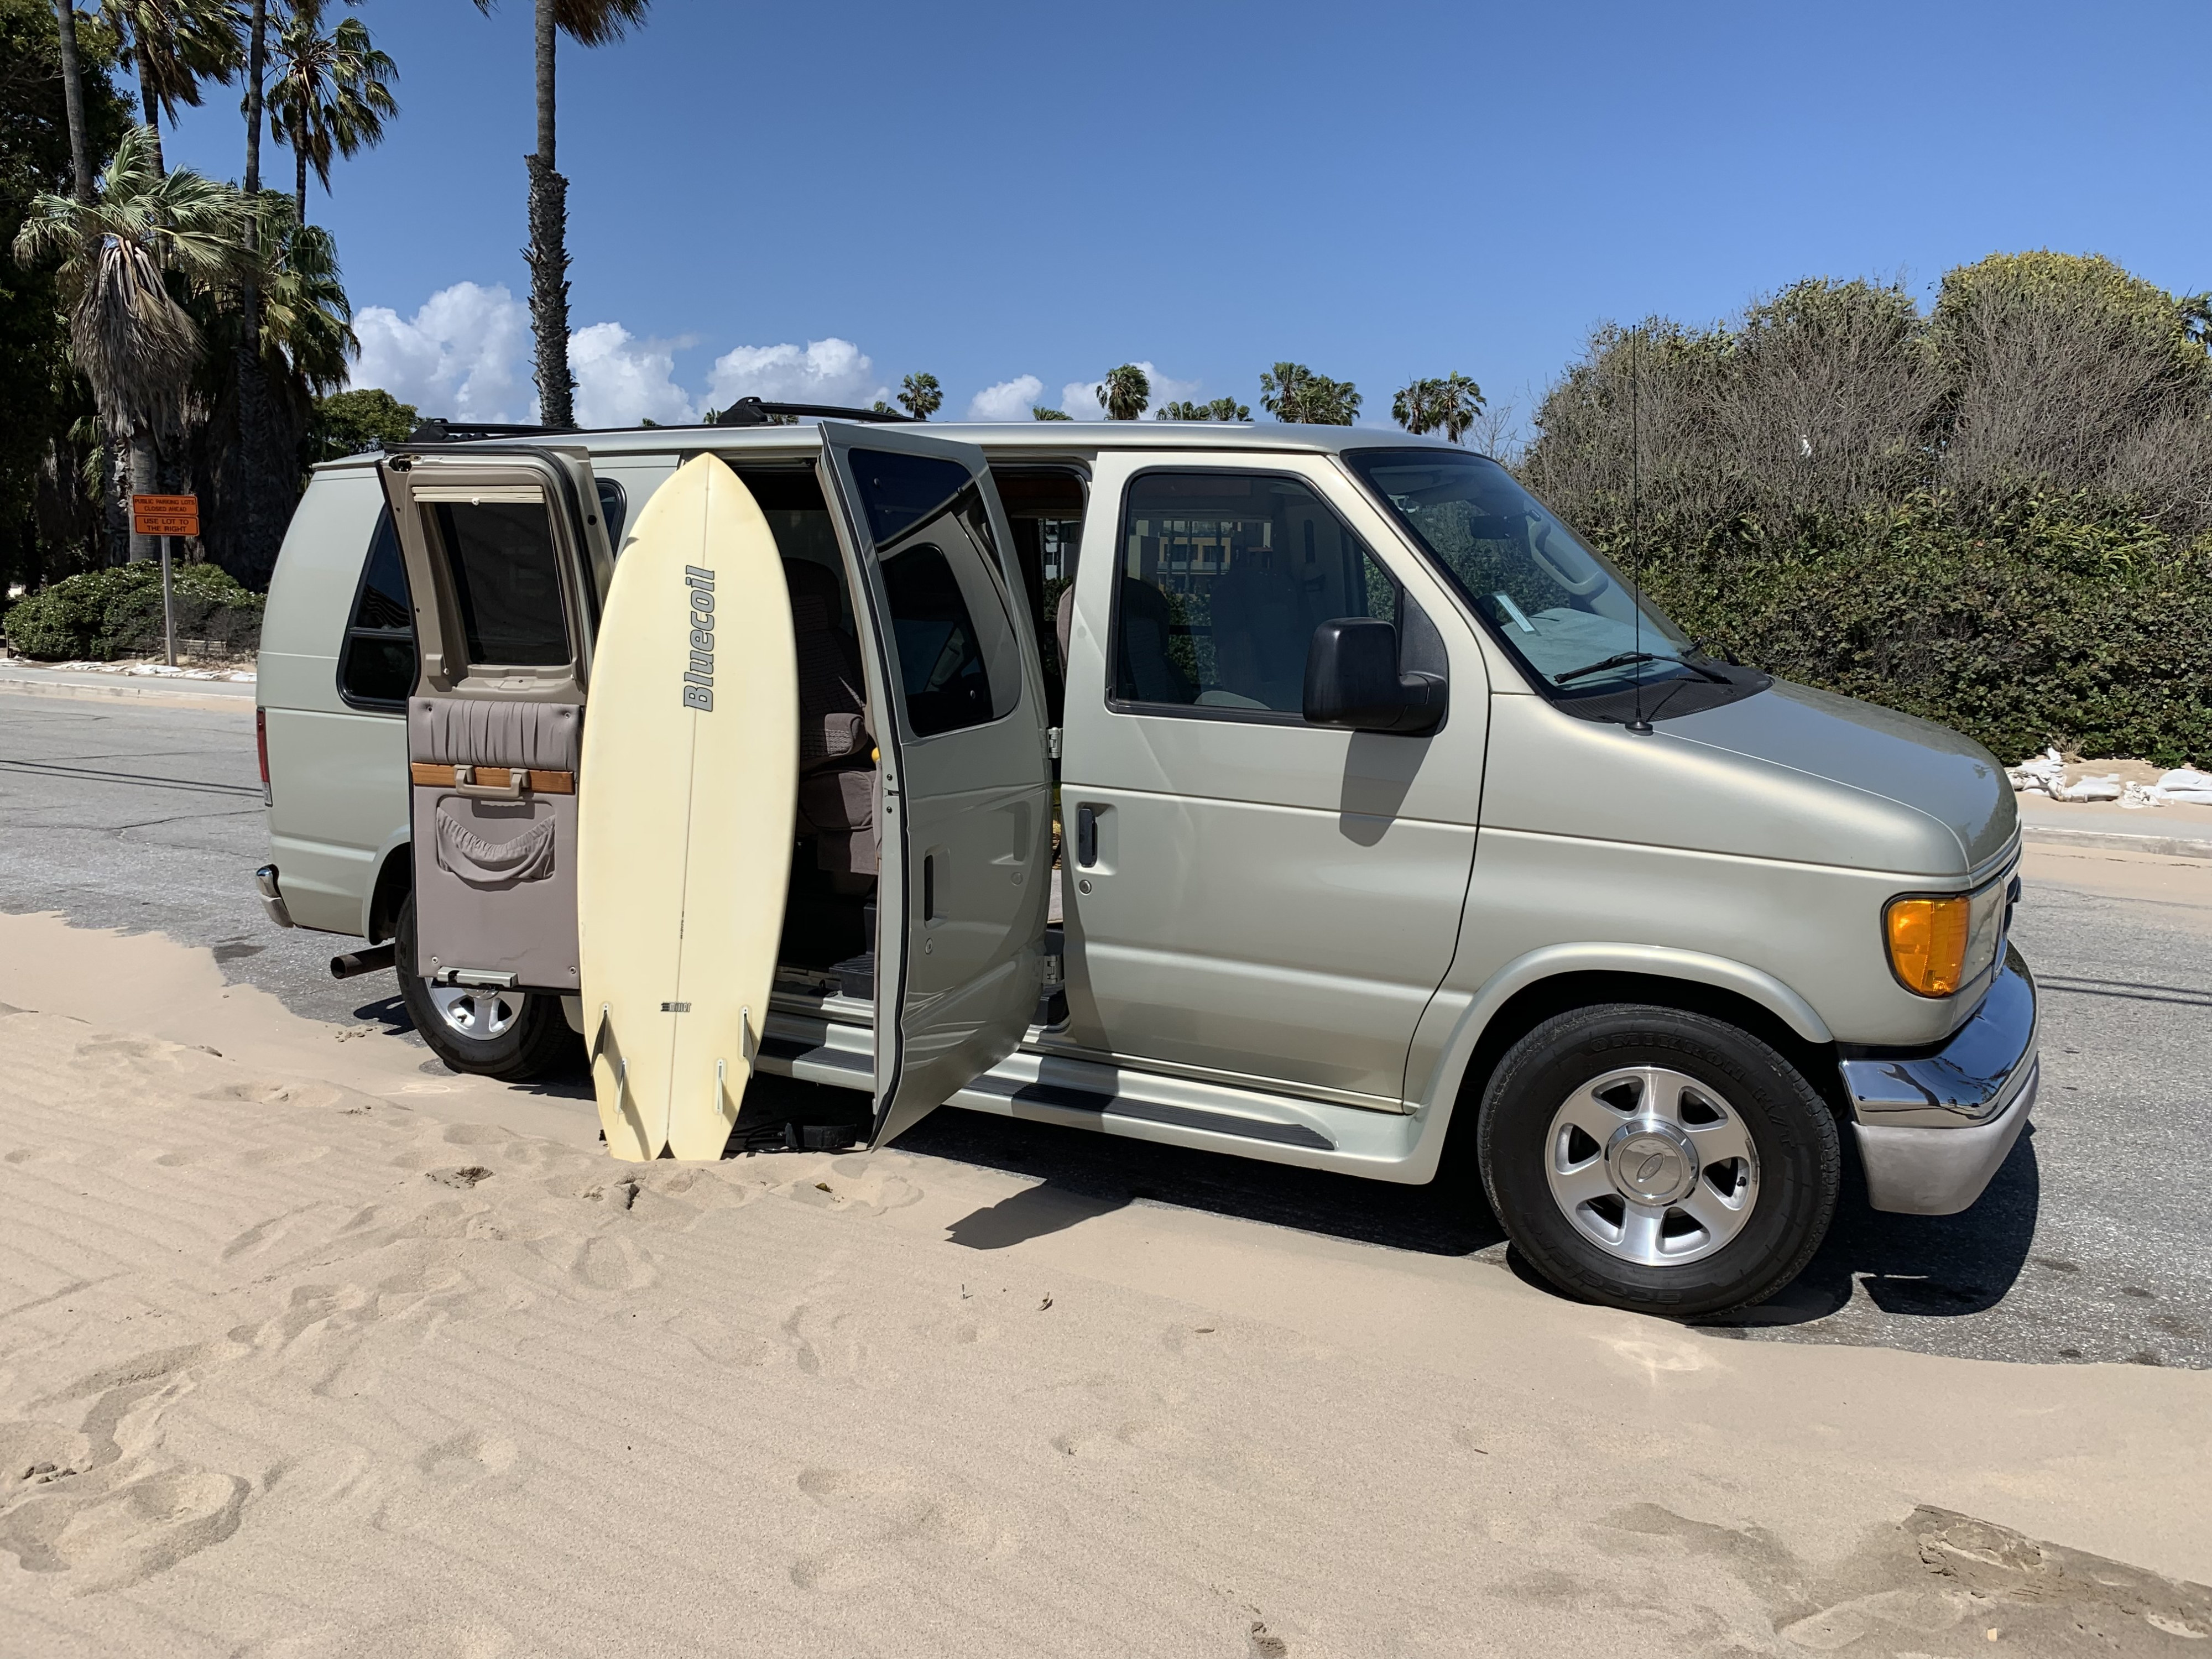
[[[535,420],[529,307],[504,285],[440,288],[411,319],[369,305],[354,319],[349,385],[383,387],[425,416]]]

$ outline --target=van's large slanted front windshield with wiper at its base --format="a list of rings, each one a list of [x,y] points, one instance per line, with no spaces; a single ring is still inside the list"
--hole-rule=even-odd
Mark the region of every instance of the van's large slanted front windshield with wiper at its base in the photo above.
[[[1721,664],[1652,604],[1639,611],[1619,573],[1495,460],[1436,449],[1354,449],[1345,460],[1546,695],[1728,684]]]

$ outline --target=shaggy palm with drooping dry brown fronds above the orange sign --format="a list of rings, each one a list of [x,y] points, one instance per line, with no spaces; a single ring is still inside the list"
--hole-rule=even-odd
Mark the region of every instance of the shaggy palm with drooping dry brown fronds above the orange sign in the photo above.
[[[15,232],[15,259],[62,257],[69,352],[93,387],[102,425],[131,445],[131,489],[159,489],[159,440],[177,429],[199,363],[199,327],[168,290],[179,276],[212,290],[239,270],[243,199],[190,168],[164,175],[155,135],[133,126],[93,201],[40,195]],[[155,557],[131,538],[131,557]]]

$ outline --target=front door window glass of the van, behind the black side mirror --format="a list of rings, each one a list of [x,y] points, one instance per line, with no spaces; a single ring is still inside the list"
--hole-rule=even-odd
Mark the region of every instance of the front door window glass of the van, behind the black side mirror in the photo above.
[[[1383,617],[1405,637],[1389,571],[1283,473],[1141,473],[1115,586],[1117,703],[1303,714],[1314,628]]]

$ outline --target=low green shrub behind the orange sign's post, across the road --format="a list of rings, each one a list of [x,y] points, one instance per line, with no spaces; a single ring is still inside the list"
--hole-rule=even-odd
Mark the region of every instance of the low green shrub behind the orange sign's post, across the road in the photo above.
[[[215,564],[175,566],[177,637],[243,655],[261,644],[263,597]],[[0,630],[27,657],[113,661],[161,650],[161,566],[86,571],[18,599]]]

